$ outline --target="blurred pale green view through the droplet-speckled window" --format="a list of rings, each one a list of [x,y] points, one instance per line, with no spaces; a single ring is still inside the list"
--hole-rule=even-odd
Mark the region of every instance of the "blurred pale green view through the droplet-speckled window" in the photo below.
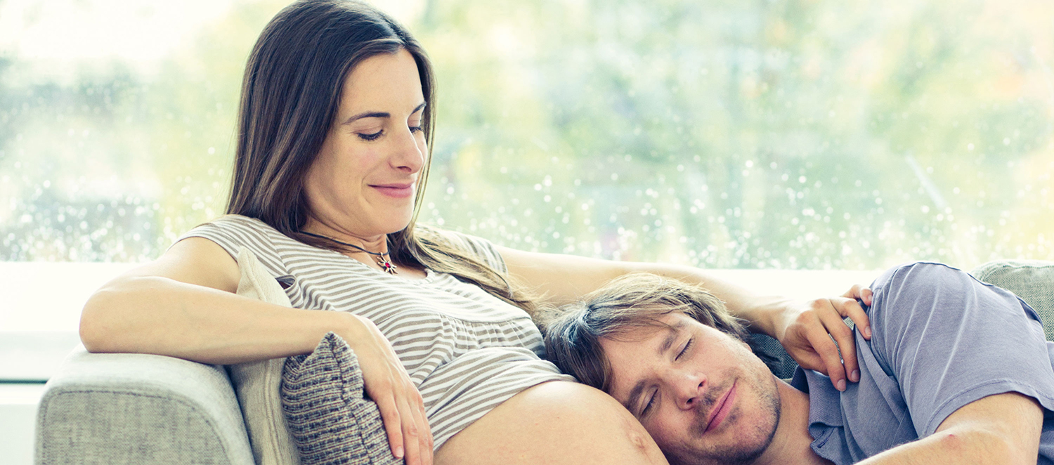
[[[222,214],[287,1],[0,0],[0,260],[138,261]],[[1049,0],[403,0],[421,220],[707,268],[1054,259]]]

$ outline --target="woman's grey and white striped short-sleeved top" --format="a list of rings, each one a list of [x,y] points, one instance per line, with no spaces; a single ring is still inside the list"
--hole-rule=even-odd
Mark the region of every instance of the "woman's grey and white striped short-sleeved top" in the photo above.
[[[387,274],[237,215],[201,225],[186,237],[212,240],[234,257],[248,247],[275,277],[292,278],[286,293],[293,307],[352,312],[376,324],[425,400],[436,450],[518,392],[547,381],[574,381],[542,360],[542,335],[526,312],[452,275]],[[507,272],[489,241],[448,237]]]

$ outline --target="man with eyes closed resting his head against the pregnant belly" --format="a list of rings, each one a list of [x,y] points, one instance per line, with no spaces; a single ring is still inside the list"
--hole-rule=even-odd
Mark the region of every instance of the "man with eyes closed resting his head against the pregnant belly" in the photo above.
[[[720,301],[655,275],[541,324],[549,359],[626,406],[670,463],[1054,464],[1054,345],[1031,307],[939,264],[872,290],[843,392],[801,368],[777,379]]]

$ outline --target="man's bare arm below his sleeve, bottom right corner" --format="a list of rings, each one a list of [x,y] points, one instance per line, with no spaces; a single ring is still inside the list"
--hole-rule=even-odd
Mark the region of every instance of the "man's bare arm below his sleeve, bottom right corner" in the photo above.
[[[859,464],[1033,465],[1042,424],[1043,410],[1036,400],[1017,392],[989,395],[960,407],[937,432]]]

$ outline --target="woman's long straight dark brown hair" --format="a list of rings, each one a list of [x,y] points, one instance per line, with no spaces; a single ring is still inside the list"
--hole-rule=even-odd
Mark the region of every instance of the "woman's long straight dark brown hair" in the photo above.
[[[344,251],[337,243],[301,233],[310,214],[304,182],[336,118],[351,70],[369,57],[399,50],[409,52],[417,64],[427,103],[422,124],[428,154],[410,224],[388,234],[392,258],[453,274],[531,311],[531,299],[513,292],[505,276],[441,232],[422,229],[415,234],[432,158],[435,77],[421,43],[403,25],[364,2],[300,0],[275,15],[260,33],[241,84],[227,213],[258,218],[311,246]]]

